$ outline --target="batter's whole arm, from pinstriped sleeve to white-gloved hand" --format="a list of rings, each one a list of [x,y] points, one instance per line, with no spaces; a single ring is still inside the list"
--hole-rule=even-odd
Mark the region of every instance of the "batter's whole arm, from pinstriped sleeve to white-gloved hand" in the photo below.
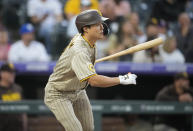
[[[71,65],[80,82],[87,80],[91,86],[110,87],[118,84],[136,84],[137,76],[131,73],[124,76],[120,75],[119,77],[97,75],[90,58],[84,52],[76,53]]]

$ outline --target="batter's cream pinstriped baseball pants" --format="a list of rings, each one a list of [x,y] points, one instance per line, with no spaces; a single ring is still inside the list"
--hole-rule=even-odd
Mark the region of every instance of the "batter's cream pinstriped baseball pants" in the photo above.
[[[47,85],[44,102],[66,131],[94,131],[92,108],[85,90],[60,92]]]

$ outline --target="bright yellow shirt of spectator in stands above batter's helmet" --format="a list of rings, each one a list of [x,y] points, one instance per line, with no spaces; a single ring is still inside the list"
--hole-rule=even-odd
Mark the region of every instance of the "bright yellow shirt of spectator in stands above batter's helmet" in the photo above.
[[[85,0],[68,0],[64,7],[64,13],[67,16],[67,19],[70,20],[72,17],[76,16],[81,12],[81,2]],[[91,9],[98,10],[98,0],[87,0],[91,3]]]

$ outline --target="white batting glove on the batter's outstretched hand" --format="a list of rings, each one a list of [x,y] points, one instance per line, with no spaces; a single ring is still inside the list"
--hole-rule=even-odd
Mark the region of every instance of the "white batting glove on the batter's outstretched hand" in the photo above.
[[[120,84],[122,85],[129,85],[129,84],[134,84],[136,85],[136,78],[137,76],[135,74],[128,73],[126,75],[120,75],[119,80]]]

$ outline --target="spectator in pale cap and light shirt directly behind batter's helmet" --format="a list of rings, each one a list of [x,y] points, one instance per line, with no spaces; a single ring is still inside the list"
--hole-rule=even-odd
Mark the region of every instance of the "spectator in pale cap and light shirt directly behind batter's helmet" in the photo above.
[[[92,3],[90,2],[90,0],[81,0],[80,4],[81,4],[81,6],[80,6],[81,12],[84,11],[84,10],[91,9]],[[78,30],[77,30],[76,25],[75,25],[75,20],[76,20],[76,15],[73,16],[69,20],[69,25],[67,27],[67,35],[70,38],[72,38],[74,35],[76,35],[78,33]]]

